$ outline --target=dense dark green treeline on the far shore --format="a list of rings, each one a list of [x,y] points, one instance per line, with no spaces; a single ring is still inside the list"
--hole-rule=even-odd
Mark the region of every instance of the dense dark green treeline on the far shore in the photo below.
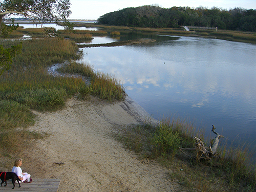
[[[106,13],[98,18],[100,24],[151,27],[179,28],[180,26],[218,27],[218,29],[256,31],[256,10],[234,8],[230,10],[213,7],[172,7],[142,6],[125,8]]]

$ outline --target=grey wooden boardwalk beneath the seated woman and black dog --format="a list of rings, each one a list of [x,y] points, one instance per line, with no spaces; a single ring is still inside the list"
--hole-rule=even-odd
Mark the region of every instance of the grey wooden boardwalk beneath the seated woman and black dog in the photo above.
[[[1,182],[1,180],[0,180]],[[20,183],[20,187],[18,187],[18,184],[15,183],[15,188],[12,189],[13,184],[11,179],[7,181],[7,186],[4,187],[5,183],[3,183],[3,186],[0,185],[0,191],[12,191],[12,192],[18,192],[18,191],[58,191],[60,179],[34,179],[32,178],[31,183]]]

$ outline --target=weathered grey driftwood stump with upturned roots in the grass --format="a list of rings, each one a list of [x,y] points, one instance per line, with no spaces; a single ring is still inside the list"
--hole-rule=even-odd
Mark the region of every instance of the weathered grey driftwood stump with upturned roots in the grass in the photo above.
[[[212,125],[212,129],[211,131],[214,132],[214,134],[216,134],[217,136],[214,139],[214,142],[212,143],[212,145],[210,145],[209,147],[204,146],[204,143],[201,141],[201,139],[194,137],[194,139],[196,139],[195,142],[195,147],[194,148],[182,148],[180,147],[180,151],[185,154],[186,156],[190,157],[190,158],[196,158],[198,160],[201,159],[205,159],[205,160],[209,160],[211,158],[216,158],[217,157],[217,147],[219,145],[219,139],[221,137],[224,137],[222,135],[220,135],[219,133],[217,133],[215,131],[215,126]],[[184,151],[189,150],[189,151],[196,151],[196,156],[190,156],[188,154],[186,154]]]

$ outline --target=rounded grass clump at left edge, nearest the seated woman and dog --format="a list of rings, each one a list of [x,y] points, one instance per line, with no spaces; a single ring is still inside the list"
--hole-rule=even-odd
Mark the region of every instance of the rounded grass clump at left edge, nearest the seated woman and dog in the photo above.
[[[34,124],[34,117],[30,108],[24,104],[0,100],[0,157],[20,153],[32,139],[44,137],[45,134],[24,129]]]

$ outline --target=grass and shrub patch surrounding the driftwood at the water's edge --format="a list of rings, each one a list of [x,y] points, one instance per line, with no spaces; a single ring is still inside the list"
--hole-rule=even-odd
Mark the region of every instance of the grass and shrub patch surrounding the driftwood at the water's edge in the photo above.
[[[209,140],[202,130],[186,120],[168,118],[158,125],[126,127],[115,138],[141,159],[155,159],[168,167],[169,178],[178,182],[181,191],[255,191],[256,170],[247,147],[223,145],[218,150],[219,158],[197,161],[178,150],[194,147],[194,136],[208,146]]]

